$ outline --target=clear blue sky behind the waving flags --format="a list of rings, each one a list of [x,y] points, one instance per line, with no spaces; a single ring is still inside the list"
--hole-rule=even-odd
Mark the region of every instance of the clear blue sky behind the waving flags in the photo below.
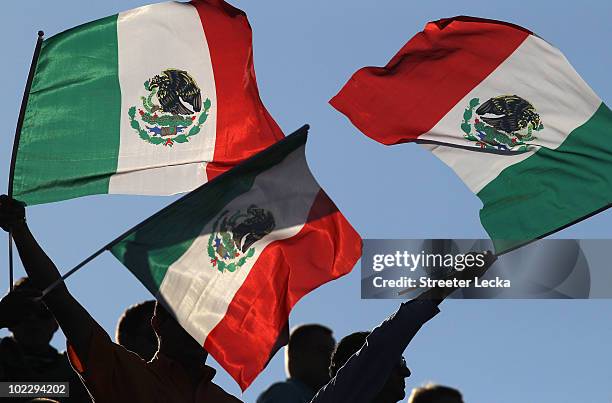
[[[147,3],[3,4],[1,189],[6,189],[12,133],[36,31],[43,29],[49,36]],[[247,12],[253,27],[255,67],[265,104],[285,133],[304,123],[311,125],[307,146],[311,169],[364,238],[486,237],[478,219],[480,201],[450,169],[415,145],[375,143],[327,104],[356,69],[384,65],[427,21],[467,14],[523,25],[560,48],[595,92],[608,105],[612,102],[609,1],[236,0],[232,4]],[[172,200],[93,196],[32,207],[28,219],[60,271],[67,271]],[[610,228],[612,211],[607,211],[558,236],[611,238]],[[0,247],[2,273],[6,261],[6,248]],[[8,275],[0,275],[2,289],[8,287],[7,280]],[[111,334],[125,307],[150,298],[110,254],[74,275],[68,287]],[[357,266],[352,274],[300,301],[290,322],[323,323],[339,339],[375,326],[398,306],[398,301],[362,301],[359,296]],[[426,381],[449,384],[463,391],[467,403],[610,402],[611,309],[610,300],[447,301],[406,351],[413,373],[408,386]],[[61,335],[53,340],[58,348],[63,343]],[[283,357],[278,354],[242,399],[253,402],[261,390],[283,378]],[[223,370],[215,379],[240,396]]]

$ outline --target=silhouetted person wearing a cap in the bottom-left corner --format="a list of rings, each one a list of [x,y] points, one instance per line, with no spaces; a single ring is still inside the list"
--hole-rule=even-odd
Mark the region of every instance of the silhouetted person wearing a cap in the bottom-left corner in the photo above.
[[[34,299],[37,296],[40,291],[24,277],[0,301],[0,328],[11,332],[0,339],[0,381],[68,382],[70,397],[61,402],[89,402],[66,355],[49,344],[58,325],[47,307]]]

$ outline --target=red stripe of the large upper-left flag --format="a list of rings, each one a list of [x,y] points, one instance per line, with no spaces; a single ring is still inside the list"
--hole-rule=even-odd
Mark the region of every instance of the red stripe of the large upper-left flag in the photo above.
[[[208,180],[284,137],[259,98],[251,26],[221,0],[194,0],[210,49],[217,92],[217,136]]]

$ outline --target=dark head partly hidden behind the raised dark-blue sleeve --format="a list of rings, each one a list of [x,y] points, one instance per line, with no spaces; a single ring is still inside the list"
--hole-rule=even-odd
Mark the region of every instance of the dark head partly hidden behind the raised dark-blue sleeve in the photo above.
[[[349,358],[361,349],[369,335],[370,332],[356,332],[340,340],[332,355],[332,362],[329,367],[329,373],[332,377],[336,376],[338,370]],[[374,401],[377,403],[396,403],[402,400],[406,397],[405,379],[409,376],[410,370],[406,366],[406,360],[402,356],[397,357],[397,363]]]

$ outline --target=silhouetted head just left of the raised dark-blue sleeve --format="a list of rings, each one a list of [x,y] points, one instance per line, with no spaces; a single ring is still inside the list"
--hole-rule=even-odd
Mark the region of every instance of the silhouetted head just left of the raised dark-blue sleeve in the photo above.
[[[301,325],[293,329],[286,349],[287,373],[319,390],[329,381],[329,364],[336,340],[331,329],[316,325]]]

